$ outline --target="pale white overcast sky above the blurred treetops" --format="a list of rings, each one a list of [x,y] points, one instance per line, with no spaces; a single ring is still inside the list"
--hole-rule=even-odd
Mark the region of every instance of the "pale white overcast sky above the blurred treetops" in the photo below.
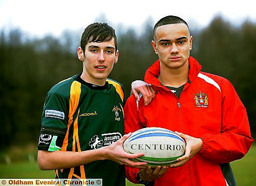
[[[198,26],[206,26],[216,15],[235,24],[246,19],[256,23],[255,4],[252,0],[0,0],[0,30],[19,27],[35,36],[58,36],[65,29],[85,28],[100,15],[113,27],[122,24],[138,28],[149,17],[156,23],[167,15]]]

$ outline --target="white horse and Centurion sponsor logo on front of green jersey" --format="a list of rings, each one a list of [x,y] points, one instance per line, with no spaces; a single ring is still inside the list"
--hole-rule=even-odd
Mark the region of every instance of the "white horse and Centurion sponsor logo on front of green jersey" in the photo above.
[[[109,146],[118,139],[122,138],[120,133],[107,133],[101,135],[94,135],[90,141],[89,146],[91,149],[99,149],[101,147]]]

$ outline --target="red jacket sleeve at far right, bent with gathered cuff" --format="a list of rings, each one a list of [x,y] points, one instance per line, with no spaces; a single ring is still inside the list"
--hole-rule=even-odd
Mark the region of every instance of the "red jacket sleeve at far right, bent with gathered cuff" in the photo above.
[[[219,163],[243,158],[249,151],[253,139],[246,108],[241,103],[233,85],[224,79],[221,83],[222,126],[220,134],[204,134],[203,147],[199,154]]]

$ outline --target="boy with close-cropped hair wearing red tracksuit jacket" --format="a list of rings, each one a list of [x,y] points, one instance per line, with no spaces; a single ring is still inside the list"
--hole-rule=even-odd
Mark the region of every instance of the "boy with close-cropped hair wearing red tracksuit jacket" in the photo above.
[[[225,78],[204,73],[190,56],[193,37],[187,23],[167,16],[154,27],[157,60],[145,73],[156,95],[151,104],[126,102],[125,133],[143,127],[178,131],[185,155],[170,167],[126,167],[127,178],[145,185],[236,185],[229,162],[241,159],[253,139],[244,105]]]

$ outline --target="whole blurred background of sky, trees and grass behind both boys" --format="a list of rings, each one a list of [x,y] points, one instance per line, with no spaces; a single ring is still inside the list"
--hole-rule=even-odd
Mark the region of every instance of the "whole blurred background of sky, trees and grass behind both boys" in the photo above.
[[[253,4],[0,0],[0,178],[54,176],[36,166],[45,96],[54,84],[82,71],[77,47],[84,28],[93,22],[107,22],[116,30],[119,60],[109,77],[124,85],[127,98],[131,82],[143,80],[145,70],[157,60],[151,46],[154,24],[168,15],[183,18],[194,37],[191,55],[203,71],[232,82],[247,108],[255,138]],[[239,185],[255,183],[250,168],[256,164],[255,155],[253,146],[245,160],[232,164]]]

